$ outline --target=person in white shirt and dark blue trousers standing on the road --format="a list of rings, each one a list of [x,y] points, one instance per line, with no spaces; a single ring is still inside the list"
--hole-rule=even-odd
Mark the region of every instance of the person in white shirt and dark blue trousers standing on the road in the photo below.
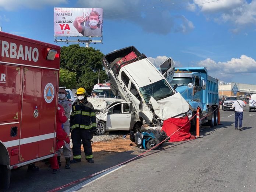
[[[232,104],[232,108],[235,108],[235,129],[237,129],[238,127],[238,119],[239,119],[240,131],[242,131],[243,107],[245,107],[245,103],[240,100],[239,96],[237,96],[237,100]]]

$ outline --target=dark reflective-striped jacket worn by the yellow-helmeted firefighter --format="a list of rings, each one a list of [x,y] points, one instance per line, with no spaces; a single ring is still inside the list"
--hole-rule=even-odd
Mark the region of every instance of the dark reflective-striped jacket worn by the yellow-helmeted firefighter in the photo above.
[[[91,129],[96,128],[96,126],[96,116],[92,103],[88,102],[87,99],[80,103],[77,99],[72,105],[70,129],[80,128],[91,132]]]

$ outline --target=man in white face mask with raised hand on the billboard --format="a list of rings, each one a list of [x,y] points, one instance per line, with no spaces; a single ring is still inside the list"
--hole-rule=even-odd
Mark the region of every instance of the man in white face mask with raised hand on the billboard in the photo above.
[[[83,16],[76,17],[74,21],[74,27],[83,36],[102,36],[102,31],[98,28],[100,15],[97,11],[92,11],[89,15],[89,26],[83,26],[82,23],[85,22]]]

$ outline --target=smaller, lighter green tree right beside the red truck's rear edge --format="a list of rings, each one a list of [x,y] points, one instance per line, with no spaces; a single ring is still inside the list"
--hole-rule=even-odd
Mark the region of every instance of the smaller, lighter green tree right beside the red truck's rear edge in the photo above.
[[[75,88],[77,83],[77,74],[67,69],[60,69],[60,82],[59,86],[65,86],[67,89]]]

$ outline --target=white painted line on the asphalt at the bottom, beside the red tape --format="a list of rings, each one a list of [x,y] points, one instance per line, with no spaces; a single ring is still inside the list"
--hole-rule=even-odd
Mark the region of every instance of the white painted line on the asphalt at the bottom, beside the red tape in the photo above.
[[[81,190],[83,187],[85,187],[86,185],[89,185],[89,184],[91,184],[92,182],[94,182],[94,181],[96,181],[96,180],[98,180],[98,179],[100,179],[100,178],[102,178],[102,177],[105,177],[106,175],[108,175],[108,174],[110,174],[110,173],[113,173],[114,171],[117,171],[118,169],[120,169],[120,168],[122,168],[122,167],[125,167],[125,165],[120,166],[120,167],[117,167],[117,168],[110,169],[110,170],[108,170],[108,171],[106,171],[106,172],[104,172],[104,173],[101,173],[101,174],[99,174],[99,175],[97,175],[97,176],[95,176],[95,177],[92,177],[92,178],[88,179],[87,181],[82,182],[81,184],[78,184],[78,185],[76,185],[76,186],[74,186],[74,187],[72,187],[72,188],[70,188],[70,189],[68,189],[68,190],[66,190],[66,191],[64,191],[64,192],[79,191],[79,190]]]

